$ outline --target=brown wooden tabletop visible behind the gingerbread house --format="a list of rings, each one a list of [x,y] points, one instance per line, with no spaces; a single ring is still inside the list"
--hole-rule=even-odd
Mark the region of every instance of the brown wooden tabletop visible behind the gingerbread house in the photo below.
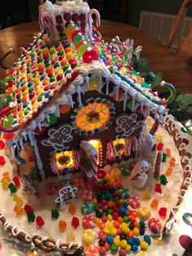
[[[182,93],[192,92],[192,68],[150,34],[128,24],[108,20],[102,20],[99,30],[106,42],[111,42],[111,39],[116,35],[119,35],[121,40],[133,38],[134,46],[142,45],[142,57],[149,60],[152,71],[161,73],[164,80],[171,82],[177,87],[178,91]],[[15,49],[15,54],[7,57],[4,63],[11,67],[20,56],[20,46],[28,47],[33,40],[33,34],[39,31],[37,22],[20,24],[0,30],[0,55],[7,52],[11,47]],[[1,69],[0,77],[4,76],[5,73]]]

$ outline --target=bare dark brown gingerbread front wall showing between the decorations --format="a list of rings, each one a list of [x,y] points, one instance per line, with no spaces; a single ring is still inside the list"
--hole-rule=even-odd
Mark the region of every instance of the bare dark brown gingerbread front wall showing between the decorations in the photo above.
[[[129,112],[123,111],[123,105],[124,105],[123,101],[116,101],[108,95],[103,95],[101,93],[98,93],[98,91],[96,91],[96,90],[86,92],[85,95],[82,95],[81,101],[82,101],[82,103],[84,103],[86,99],[98,98],[98,97],[101,99],[103,99],[103,98],[108,99],[109,101],[111,101],[111,103],[114,104],[115,109],[116,109],[116,117],[118,115],[120,115],[121,113],[126,113],[126,114],[132,113],[131,111],[129,111]],[[73,106],[73,109],[78,108],[78,102],[76,100],[76,95],[73,95],[73,102],[76,102],[76,104],[74,104],[74,106]],[[61,114],[57,123],[53,126],[50,126],[48,128],[48,130],[46,131],[46,133],[44,133],[42,135],[36,135],[37,146],[39,148],[41,161],[43,162],[43,170],[45,171],[46,177],[55,175],[52,172],[52,170],[50,169],[50,161],[49,161],[50,154],[51,154],[51,152],[53,152],[55,150],[55,148],[47,147],[47,146],[43,145],[42,141],[45,141],[45,139],[48,139],[48,131],[50,129],[59,130],[59,128],[61,126],[63,126],[63,124],[71,125],[71,115],[72,115],[73,109],[71,109],[70,112],[68,112],[66,114]],[[142,113],[137,113],[137,121],[141,121],[143,119],[144,119],[144,117],[143,117]],[[115,128],[116,128],[116,122],[114,121],[113,124],[108,128],[108,130],[101,131],[97,135],[82,136],[82,135],[79,135],[78,133],[75,133],[74,131],[72,131],[72,137],[73,137],[72,141],[70,141],[69,143],[65,143],[65,146],[69,146],[70,148],[74,148],[74,149],[79,149],[81,140],[100,139],[100,140],[102,140],[102,144],[103,144],[103,164],[107,164],[107,162],[109,162],[106,159],[107,143],[111,139],[116,138],[116,135],[118,135]],[[142,130],[142,126],[137,128],[136,130],[134,130],[132,135],[134,135],[136,138],[138,138],[139,135],[141,134],[141,130]],[[58,140],[59,137],[57,136],[55,139]],[[134,152],[131,152],[130,157],[134,157]],[[128,158],[128,157],[125,157],[125,158]]]

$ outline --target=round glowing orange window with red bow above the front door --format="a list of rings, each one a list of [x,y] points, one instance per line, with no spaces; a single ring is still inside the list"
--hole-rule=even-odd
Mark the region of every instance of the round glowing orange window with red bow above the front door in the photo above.
[[[103,126],[107,123],[109,116],[110,112],[107,106],[103,103],[95,102],[81,107],[76,116],[76,126],[82,130],[103,130]]]

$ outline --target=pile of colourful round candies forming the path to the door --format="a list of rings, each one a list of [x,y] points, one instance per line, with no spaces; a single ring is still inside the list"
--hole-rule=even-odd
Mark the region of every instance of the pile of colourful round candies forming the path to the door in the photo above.
[[[86,205],[85,205],[86,204]],[[130,208],[130,205],[135,208]],[[126,255],[127,252],[146,250],[151,245],[151,237],[145,235],[146,223],[141,219],[150,218],[150,211],[140,209],[137,197],[130,197],[128,188],[112,187],[107,179],[98,183],[97,195],[91,202],[82,205],[83,227],[85,228],[83,241],[85,245],[93,245],[96,241],[94,227],[97,225],[99,254]],[[92,212],[95,212],[93,218]],[[140,220],[138,219],[140,218]]]

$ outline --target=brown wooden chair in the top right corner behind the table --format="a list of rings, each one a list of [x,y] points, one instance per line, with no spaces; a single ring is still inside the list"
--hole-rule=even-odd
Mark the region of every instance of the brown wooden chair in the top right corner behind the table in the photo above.
[[[177,35],[177,31],[191,2],[192,0],[183,1],[176,20],[172,26],[172,31],[169,35],[168,41],[166,43],[166,46],[168,48],[172,46],[172,42]],[[187,64],[190,64],[192,66],[192,22],[190,22],[190,33],[186,38],[181,38],[181,41],[179,42],[177,47],[176,54],[179,55],[181,59],[185,60]]]

